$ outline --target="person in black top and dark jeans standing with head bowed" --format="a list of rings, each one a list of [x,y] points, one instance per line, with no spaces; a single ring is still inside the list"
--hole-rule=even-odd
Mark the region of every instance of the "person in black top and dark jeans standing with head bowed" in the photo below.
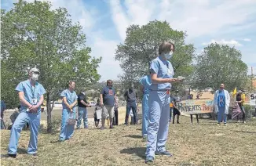
[[[128,125],[130,109],[133,111],[133,124],[137,124],[137,92],[134,90],[134,85],[131,84],[130,88],[125,92],[124,97],[126,99],[126,120],[125,124]]]

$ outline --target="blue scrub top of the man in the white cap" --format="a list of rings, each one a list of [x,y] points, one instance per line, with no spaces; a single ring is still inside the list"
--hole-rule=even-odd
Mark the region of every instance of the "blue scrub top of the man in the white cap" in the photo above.
[[[32,99],[37,99],[37,103],[38,103],[40,97],[46,93],[46,89],[43,88],[41,84],[39,84],[38,82],[35,82],[35,87],[33,87],[29,80],[20,82],[20,84],[17,85],[15,90],[17,92],[24,92],[24,98],[27,100],[28,103],[31,103],[32,105],[33,105]],[[20,112],[25,112],[27,111],[27,109],[28,109],[27,106],[24,106],[23,103],[20,103]],[[40,110],[41,110],[41,106],[38,107],[38,112],[40,112]]]

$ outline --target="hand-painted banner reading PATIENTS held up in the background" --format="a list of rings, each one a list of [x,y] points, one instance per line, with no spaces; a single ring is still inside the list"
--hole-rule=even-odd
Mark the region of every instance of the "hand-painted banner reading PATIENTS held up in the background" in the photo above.
[[[188,99],[177,103],[178,110],[184,114],[203,114],[214,111],[212,99]]]

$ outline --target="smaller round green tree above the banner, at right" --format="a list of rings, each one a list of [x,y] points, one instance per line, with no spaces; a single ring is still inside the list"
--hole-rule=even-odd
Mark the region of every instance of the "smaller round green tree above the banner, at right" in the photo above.
[[[244,81],[247,81],[247,64],[243,63],[241,57],[241,52],[229,45],[208,45],[196,57],[192,87],[212,88],[214,91],[221,83],[224,83],[229,91],[243,87]]]

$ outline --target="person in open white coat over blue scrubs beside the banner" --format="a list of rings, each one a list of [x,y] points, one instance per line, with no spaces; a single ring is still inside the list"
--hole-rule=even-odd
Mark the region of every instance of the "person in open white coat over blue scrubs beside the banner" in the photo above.
[[[227,114],[229,114],[230,96],[224,88],[225,85],[221,84],[220,89],[214,93],[214,110],[218,113],[218,125],[221,124],[222,118],[224,125],[227,125]]]

